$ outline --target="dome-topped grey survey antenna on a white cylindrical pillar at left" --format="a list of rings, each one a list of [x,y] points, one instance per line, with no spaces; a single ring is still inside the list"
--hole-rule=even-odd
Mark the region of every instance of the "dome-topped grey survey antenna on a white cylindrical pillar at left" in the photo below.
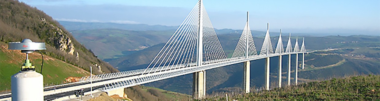
[[[8,49],[21,50],[26,54],[21,70],[11,77],[12,101],[43,101],[43,76],[35,71],[28,54],[36,50],[45,50],[45,43],[35,43],[30,39],[8,43]]]

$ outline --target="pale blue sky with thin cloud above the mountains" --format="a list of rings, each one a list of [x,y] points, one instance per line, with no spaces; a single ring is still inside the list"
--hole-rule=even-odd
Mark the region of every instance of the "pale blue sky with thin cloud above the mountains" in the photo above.
[[[57,21],[180,25],[197,0],[19,0]],[[380,35],[380,0],[203,0],[217,29]]]

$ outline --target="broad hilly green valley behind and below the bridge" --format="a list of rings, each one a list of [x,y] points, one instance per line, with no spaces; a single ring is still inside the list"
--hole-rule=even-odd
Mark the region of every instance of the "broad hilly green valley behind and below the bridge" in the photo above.
[[[102,34],[98,32],[102,32],[104,30],[108,30],[110,33]],[[130,38],[128,35],[130,33],[136,33],[136,35],[143,36],[137,43],[138,46],[142,46],[140,43],[145,43],[146,36],[152,35],[155,37],[150,37],[149,40],[160,40],[160,43],[151,43],[149,46],[144,49],[136,49],[134,50],[126,50],[121,49],[121,47],[115,48],[107,48],[114,50],[121,50],[119,54],[110,56],[113,58],[103,58],[106,62],[113,65],[115,68],[120,71],[128,71],[133,69],[141,69],[146,68],[149,65],[150,61],[155,57],[158,51],[163,47],[166,40],[170,37],[169,31],[132,31],[132,30],[121,30],[121,29],[100,29],[100,30],[81,30],[81,31],[73,31],[74,36],[80,36],[79,38],[84,38],[83,35],[86,35],[86,32],[90,35],[98,35],[104,36],[103,39],[109,36],[124,36],[123,38],[114,37],[113,40],[119,40],[117,42],[123,43],[123,40],[127,40],[125,38]],[[116,32],[116,33],[114,33]],[[150,32],[150,33],[148,33]],[[236,43],[238,38],[240,37],[241,31],[235,30],[216,30],[218,33],[218,38],[220,39],[220,43],[224,51],[226,52],[228,57],[231,57],[234,48],[236,47]],[[233,33],[231,33],[233,32]],[[138,34],[137,34],[138,33]],[[158,33],[158,34],[157,34]],[[253,40],[255,41],[255,46],[257,50],[260,50],[261,45],[263,44],[263,36],[260,36],[260,33],[264,32],[253,32]],[[144,36],[144,34],[147,34]],[[276,35],[278,33],[274,33],[272,35]],[[258,36],[255,36],[258,35]],[[333,50],[333,51],[323,51],[323,52],[315,52],[306,54],[305,56],[305,69],[299,69],[299,82],[311,82],[311,81],[321,81],[330,79],[332,77],[344,77],[349,75],[360,75],[360,74],[380,74],[379,68],[379,58],[380,55],[378,51],[380,49],[379,43],[376,43],[380,36],[364,36],[364,35],[353,35],[353,36],[298,36],[299,40],[302,40],[302,37],[305,37],[305,43],[307,46],[306,49],[317,50],[317,49],[335,49],[335,48],[344,48],[343,50]],[[133,38],[133,37],[131,37]],[[282,37],[284,40],[288,38],[288,36]],[[294,42],[297,36],[292,36],[291,41]],[[277,42],[278,36],[272,36],[272,42]],[[91,41],[86,41],[88,39],[84,38],[84,43],[90,43],[92,41],[100,41],[101,39],[93,39]],[[120,41],[121,40],[121,41]],[[325,44],[320,44],[319,42],[324,42]],[[103,41],[102,44],[107,44],[108,41]],[[283,43],[287,43],[287,40],[283,41]],[[108,43],[109,44],[109,43]],[[129,43],[132,44],[132,43]],[[112,45],[112,44],[109,44]],[[87,46],[85,44],[85,46]],[[127,45],[128,46],[128,45]],[[272,43],[272,46],[275,46],[275,43]],[[293,44],[294,47],[294,44]],[[126,48],[126,47],[122,47]],[[130,47],[131,48],[131,47]],[[90,48],[91,49],[91,48]],[[133,48],[131,48],[133,49]],[[108,50],[100,52],[101,55],[112,54],[114,50]],[[97,54],[97,50],[93,50],[95,54]],[[121,53],[121,54],[120,54]],[[99,57],[101,55],[98,55]],[[302,55],[299,55],[301,58]],[[102,57],[100,57],[102,58]],[[282,77],[287,76],[287,56],[283,56],[283,75]],[[291,56],[292,60],[295,59],[295,55]],[[300,61],[300,60],[299,60]],[[300,63],[300,62],[299,62]],[[353,64],[361,64],[365,63],[367,65],[353,65]],[[277,65],[278,65],[278,57],[271,58],[271,87],[275,87],[277,84]],[[291,78],[294,77],[294,69],[296,68],[295,63],[291,63]],[[300,65],[300,64],[299,64]],[[262,68],[260,68],[262,67]],[[261,88],[264,85],[264,60],[256,60],[251,63],[251,85],[253,88]],[[300,67],[300,66],[299,66]],[[348,71],[342,72],[341,69],[349,69]],[[359,70],[359,71],[358,71]],[[370,72],[368,72],[370,71]],[[230,65],[221,68],[215,68],[207,71],[207,82],[206,88],[207,92],[241,92],[242,88],[242,64]],[[287,79],[282,79],[282,82],[286,82]],[[179,82],[177,82],[179,81]],[[293,79],[292,79],[293,82]],[[191,95],[192,88],[192,74],[187,74],[184,76],[173,77],[170,79],[160,80],[157,82],[152,82],[149,84],[144,84],[144,86],[149,87],[157,87],[165,90],[170,90],[173,92],[186,93]],[[285,83],[282,85],[286,85]],[[180,88],[180,89],[179,89]]]

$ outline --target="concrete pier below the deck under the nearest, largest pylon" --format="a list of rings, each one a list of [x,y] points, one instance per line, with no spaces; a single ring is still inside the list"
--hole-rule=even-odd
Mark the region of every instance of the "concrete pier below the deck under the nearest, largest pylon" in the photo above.
[[[193,73],[193,97],[204,98],[206,95],[206,71]]]

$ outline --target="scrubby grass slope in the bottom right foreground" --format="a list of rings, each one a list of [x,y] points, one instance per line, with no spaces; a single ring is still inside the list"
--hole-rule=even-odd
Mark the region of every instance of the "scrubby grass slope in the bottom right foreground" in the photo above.
[[[230,94],[231,95],[231,94]],[[348,100],[376,101],[380,99],[380,76],[356,76],[345,79],[309,82],[297,86],[275,88],[258,93],[237,94],[229,96],[228,101],[317,101]],[[225,101],[225,96],[210,97],[202,101]]]

